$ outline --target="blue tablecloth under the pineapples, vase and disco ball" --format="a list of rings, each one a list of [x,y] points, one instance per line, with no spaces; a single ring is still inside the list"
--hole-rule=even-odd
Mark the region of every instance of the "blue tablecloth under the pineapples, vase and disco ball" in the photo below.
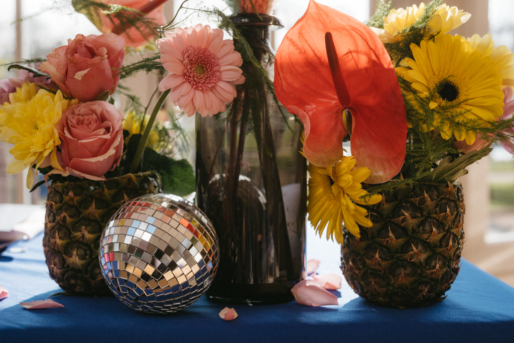
[[[343,280],[339,306],[238,305],[239,317],[224,321],[218,312],[225,305],[205,297],[175,314],[148,315],[114,297],[54,295],[62,290],[48,276],[41,241],[39,234],[0,256],[0,285],[9,291],[0,301],[0,342],[514,342],[514,288],[467,261],[448,297],[424,308],[372,305]],[[19,304],[50,296],[65,307],[29,311]]]

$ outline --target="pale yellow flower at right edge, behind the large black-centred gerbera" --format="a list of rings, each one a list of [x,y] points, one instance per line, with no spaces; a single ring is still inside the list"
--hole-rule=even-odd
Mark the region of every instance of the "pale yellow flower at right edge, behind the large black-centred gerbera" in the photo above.
[[[484,37],[473,34],[468,38],[468,42],[473,48],[478,49],[485,56],[489,56],[498,67],[498,73],[503,78],[503,85],[514,87],[514,53],[505,45],[494,47],[491,34],[487,33]]]

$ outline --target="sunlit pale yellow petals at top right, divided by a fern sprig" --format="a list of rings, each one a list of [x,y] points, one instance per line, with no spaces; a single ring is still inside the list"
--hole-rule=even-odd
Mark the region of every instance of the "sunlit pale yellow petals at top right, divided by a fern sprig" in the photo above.
[[[413,5],[405,9],[392,9],[388,16],[383,18],[384,32],[379,35],[382,42],[391,43],[400,40],[399,35],[396,37],[393,35],[414,24],[423,12],[425,12],[424,3],[419,4],[419,7]],[[430,27],[428,33],[432,35],[449,32],[467,22],[470,16],[470,13],[463,12],[455,6],[440,5],[428,23]]]

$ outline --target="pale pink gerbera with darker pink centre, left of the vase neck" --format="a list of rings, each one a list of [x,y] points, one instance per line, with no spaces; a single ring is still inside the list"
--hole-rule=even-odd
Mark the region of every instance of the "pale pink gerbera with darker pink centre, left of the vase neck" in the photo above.
[[[223,30],[198,24],[178,28],[157,40],[161,62],[169,73],[159,91],[171,89],[171,100],[188,116],[212,117],[223,112],[237,95],[234,84],[244,82],[243,63],[234,42]]]

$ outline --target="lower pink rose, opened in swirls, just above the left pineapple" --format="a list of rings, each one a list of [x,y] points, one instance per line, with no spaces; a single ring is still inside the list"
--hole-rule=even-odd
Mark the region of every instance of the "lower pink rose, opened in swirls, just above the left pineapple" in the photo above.
[[[123,115],[107,101],[90,101],[68,107],[56,124],[61,139],[59,165],[50,174],[105,180],[107,171],[120,164],[123,151]]]

